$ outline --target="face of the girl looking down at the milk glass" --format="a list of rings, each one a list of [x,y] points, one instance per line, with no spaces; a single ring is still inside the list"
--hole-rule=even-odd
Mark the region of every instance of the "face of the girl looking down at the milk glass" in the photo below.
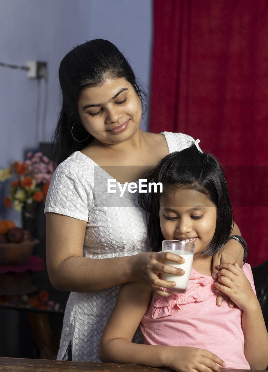
[[[217,208],[203,193],[177,189],[160,198],[160,227],[166,240],[195,244],[194,254],[208,247],[216,229]]]

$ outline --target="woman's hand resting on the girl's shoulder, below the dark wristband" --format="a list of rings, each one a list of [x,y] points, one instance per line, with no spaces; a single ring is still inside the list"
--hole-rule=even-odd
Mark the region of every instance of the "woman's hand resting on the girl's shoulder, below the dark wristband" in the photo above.
[[[214,279],[218,278],[218,265],[224,263],[234,263],[237,262],[240,267],[243,267],[243,257],[244,257],[244,250],[241,244],[235,240],[230,239],[228,240],[224,246],[213,256],[212,261],[212,276]],[[220,292],[216,299],[216,304],[220,306],[223,302],[224,297],[226,296],[225,293]],[[233,307],[233,301],[229,298],[229,307]]]

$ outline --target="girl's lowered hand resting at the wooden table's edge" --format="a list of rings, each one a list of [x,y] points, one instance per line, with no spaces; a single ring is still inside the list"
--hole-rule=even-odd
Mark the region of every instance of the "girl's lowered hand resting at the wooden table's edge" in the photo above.
[[[217,355],[196,347],[171,346],[167,352],[166,361],[166,367],[179,372],[219,372],[218,364],[226,366],[226,363]]]

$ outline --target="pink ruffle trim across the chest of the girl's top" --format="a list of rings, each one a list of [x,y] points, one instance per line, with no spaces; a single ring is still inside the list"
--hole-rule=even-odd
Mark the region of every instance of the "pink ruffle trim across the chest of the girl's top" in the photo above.
[[[154,294],[151,305],[145,316],[154,319],[168,317],[179,311],[180,305],[182,304],[207,300],[217,291],[217,289],[211,289],[211,286],[216,280],[217,279],[213,279],[212,276],[202,275],[192,269],[186,292],[182,294],[173,294],[168,297]]]

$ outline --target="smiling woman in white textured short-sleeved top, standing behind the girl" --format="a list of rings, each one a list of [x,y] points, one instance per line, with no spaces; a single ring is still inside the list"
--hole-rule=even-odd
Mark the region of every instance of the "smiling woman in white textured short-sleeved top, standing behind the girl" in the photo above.
[[[141,130],[143,92],[124,56],[108,41],[92,40],[70,51],[61,61],[59,79],[63,101],[54,161],[60,165],[45,207],[48,274],[55,288],[71,291],[58,359],[96,362],[118,286],[140,280],[167,296],[161,287],[173,282],[160,280],[158,273],[183,275],[163,265],[167,258],[180,263],[180,257],[150,251],[138,193],[114,199],[103,185],[109,179],[120,184],[146,179],[152,166],[193,139]],[[242,259],[240,244],[228,241],[214,257],[213,271],[220,262]],[[220,305],[222,297],[217,301]]]

